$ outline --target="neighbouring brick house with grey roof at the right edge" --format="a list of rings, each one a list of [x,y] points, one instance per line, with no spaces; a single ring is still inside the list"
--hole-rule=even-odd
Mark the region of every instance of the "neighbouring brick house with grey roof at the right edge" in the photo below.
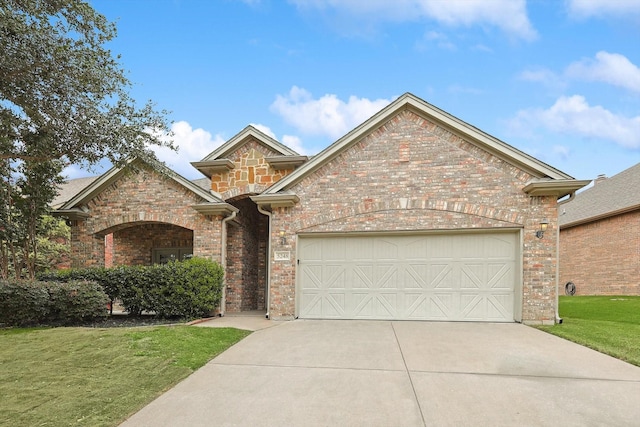
[[[562,289],[571,282],[578,295],[640,295],[639,189],[640,163],[559,206]]]

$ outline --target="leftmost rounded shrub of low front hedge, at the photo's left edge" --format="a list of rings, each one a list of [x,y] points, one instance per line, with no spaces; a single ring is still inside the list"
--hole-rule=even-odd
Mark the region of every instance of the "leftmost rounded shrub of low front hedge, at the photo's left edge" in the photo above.
[[[49,292],[41,282],[0,281],[0,323],[41,323],[49,313]]]

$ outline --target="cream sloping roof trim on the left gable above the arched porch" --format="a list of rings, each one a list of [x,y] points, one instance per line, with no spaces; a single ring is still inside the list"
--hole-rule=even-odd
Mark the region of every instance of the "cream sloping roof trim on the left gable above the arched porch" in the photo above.
[[[134,166],[135,163],[138,163],[138,162],[145,163],[141,159],[136,158],[136,159],[129,160],[125,166],[112,167],[107,172],[102,174],[100,177],[95,179],[91,184],[86,186],[82,191],[76,194],[73,198],[71,198],[62,206],[60,206],[58,210],[60,211],[70,210],[86,204],[89,200],[93,199],[95,196],[102,193],[113,182],[120,179],[120,177],[127,172],[128,167]],[[174,172],[173,170],[169,169],[168,167],[162,164],[159,164],[156,167],[154,167],[154,170],[169,177],[173,181],[177,182],[179,185],[185,187],[189,191],[195,193],[196,195],[204,199],[206,202],[210,202],[210,203],[222,202],[221,199],[214,196],[206,189],[189,181],[188,179],[184,178],[182,175],[179,175],[178,173]]]

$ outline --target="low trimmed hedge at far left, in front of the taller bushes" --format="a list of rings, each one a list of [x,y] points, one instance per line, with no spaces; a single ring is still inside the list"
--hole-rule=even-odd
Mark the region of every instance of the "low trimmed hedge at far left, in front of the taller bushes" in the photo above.
[[[95,282],[0,281],[0,323],[72,325],[106,317],[109,297]]]

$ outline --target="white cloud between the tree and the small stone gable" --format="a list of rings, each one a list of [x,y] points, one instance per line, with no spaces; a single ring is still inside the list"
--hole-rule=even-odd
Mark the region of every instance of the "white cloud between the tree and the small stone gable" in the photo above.
[[[204,129],[193,129],[186,121],[175,122],[171,126],[173,142],[178,152],[165,147],[151,147],[158,158],[170,168],[186,178],[201,178],[200,173],[191,166],[190,162],[201,160],[213,150],[222,145],[225,140],[220,135],[212,137]],[[165,136],[165,138],[168,138]]]

